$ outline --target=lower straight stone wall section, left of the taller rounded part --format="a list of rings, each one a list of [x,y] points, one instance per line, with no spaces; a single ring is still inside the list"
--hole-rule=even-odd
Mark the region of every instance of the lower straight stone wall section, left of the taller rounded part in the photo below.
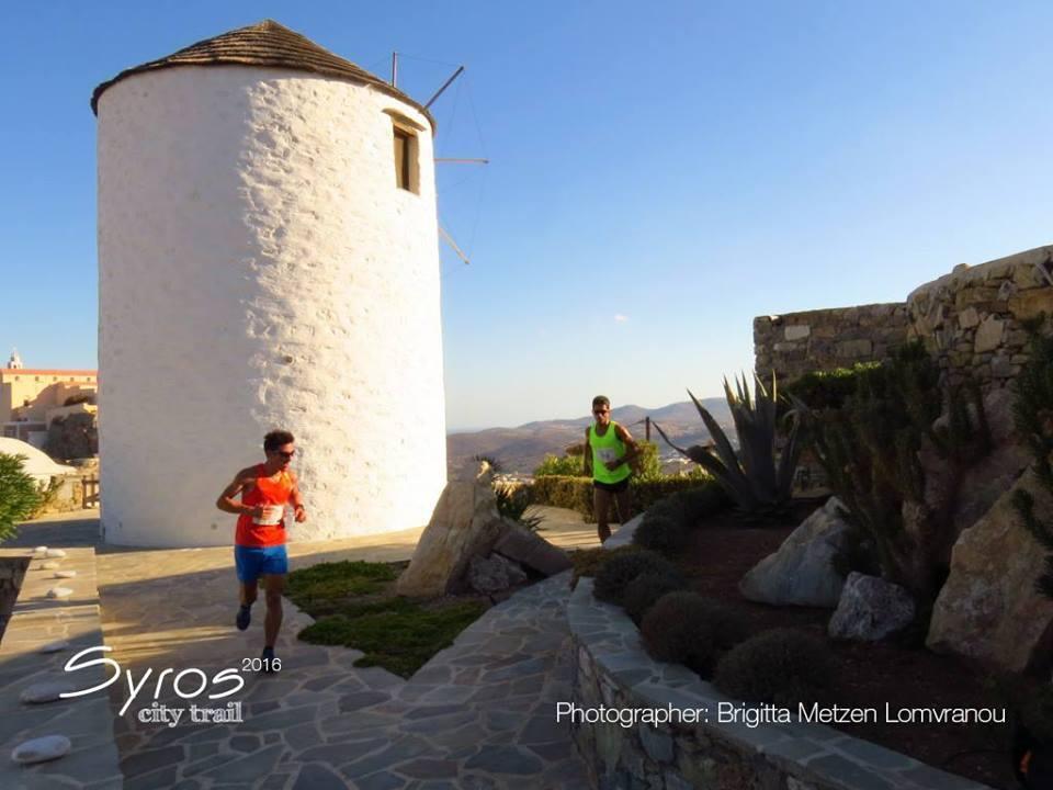
[[[883,360],[906,339],[907,309],[899,303],[754,318],[761,381],[768,381],[772,370],[779,381],[792,381],[809,371]]]

